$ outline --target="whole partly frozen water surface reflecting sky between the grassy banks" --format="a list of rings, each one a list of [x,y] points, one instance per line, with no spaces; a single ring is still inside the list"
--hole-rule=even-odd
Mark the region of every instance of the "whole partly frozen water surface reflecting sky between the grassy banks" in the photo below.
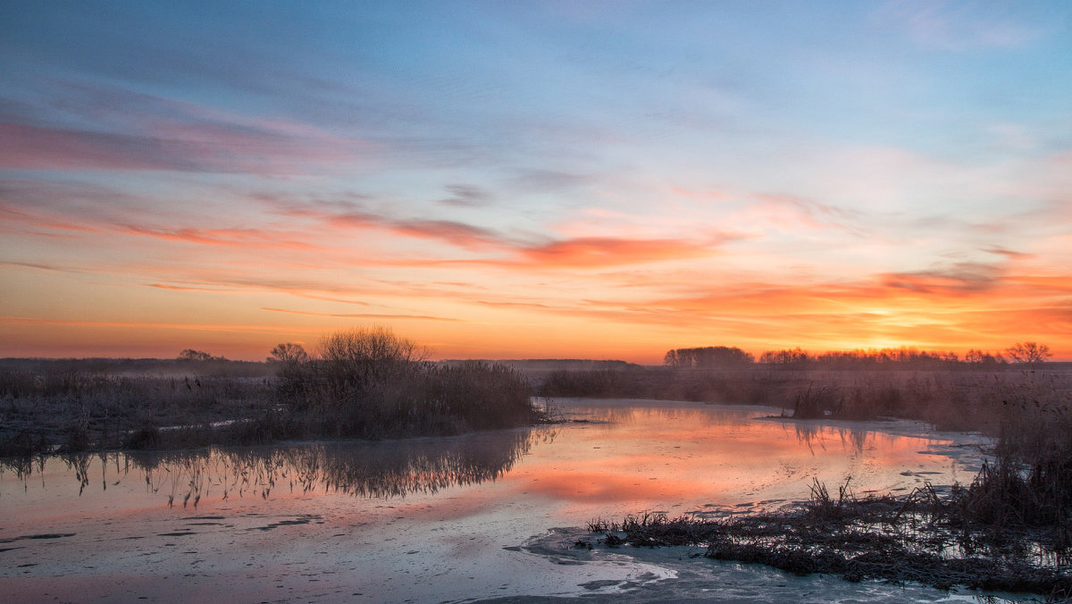
[[[695,557],[570,547],[595,518],[728,514],[970,482],[985,441],[780,410],[552,401],[569,422],[457,438],[51,457],[0,473],[0,600],[973,601]]]

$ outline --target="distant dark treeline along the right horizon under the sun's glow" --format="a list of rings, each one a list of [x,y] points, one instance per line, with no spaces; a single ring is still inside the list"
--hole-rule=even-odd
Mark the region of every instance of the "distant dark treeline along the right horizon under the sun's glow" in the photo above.
[[[1049,347],[1021,342],[1002,352],[969,350],[962,358],[954,352],[914,348],[835,351],[813,354],[800,348],[766,351],[757,360],[735,347],[703,347],[668,351],[664,364],[678,368],[742,369],[760,364],[783,369],[998,369],[1012,364],[1034,366],[1052,354]]]

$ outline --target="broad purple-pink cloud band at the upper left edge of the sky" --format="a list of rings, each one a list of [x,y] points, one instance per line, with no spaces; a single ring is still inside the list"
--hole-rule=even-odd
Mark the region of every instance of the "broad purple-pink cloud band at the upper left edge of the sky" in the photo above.
[[[51,88],[63,101],[50,112],[8,102],[18,111],[0,121],[0,167],[285,175],[353,170],[376,147],[288,118],[228,113],[102,83]]]

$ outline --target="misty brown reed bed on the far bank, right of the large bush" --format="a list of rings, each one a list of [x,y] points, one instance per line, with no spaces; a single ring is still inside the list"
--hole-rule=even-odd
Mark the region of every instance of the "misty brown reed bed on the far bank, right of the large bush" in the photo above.
[[[998,436],[1004,401],[1049,400],[1072,389],[1072,372],[599,369],[560,370],[541,396],[656,398],[778,407],[795,418],[922,419],[938,429]],[[1045,391],[1045,392],[1043,392]],[[1033,397],[1033,398],[1032,398]],[[1047,398],[1048,397],[1048,398]]]

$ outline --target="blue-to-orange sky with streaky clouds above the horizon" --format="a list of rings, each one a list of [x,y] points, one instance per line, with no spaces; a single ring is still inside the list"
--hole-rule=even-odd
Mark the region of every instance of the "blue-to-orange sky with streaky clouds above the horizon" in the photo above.
[[[1072,4],[0,3],[0,356],[1072,359]]]

